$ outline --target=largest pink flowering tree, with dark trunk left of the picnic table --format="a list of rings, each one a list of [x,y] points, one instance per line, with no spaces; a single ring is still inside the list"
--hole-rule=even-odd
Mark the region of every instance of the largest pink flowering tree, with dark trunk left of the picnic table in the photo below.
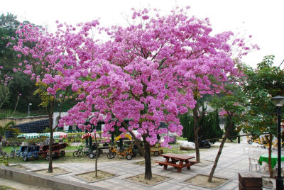
[[[111,40],[89,39],[77,50],[79,65],[72,69],[80,80],[72,90],[80,94],[80,102],[60,121],[82,126],[92,117],[94,125],[106,123],[104,137],[117,126],[131,133],[136,143],[143,138],[145,151],[137,145],[146,161],[145,179],[152,178],[150,147],[157,135],[165,134],[162,145],[167,147],[171,139],[166,134],[182,133],[178,115],[195,108],[197,96],[218,92],[237,71],[228,43],[231,32],[210,35],[208,19],[188,17],[187,9],[175,9],[168,16],[154,12],[150,18],[147,9],[133,9],[130,26],[99,28]],[[129,125],[125,118],[131,119]],[[162,121],[168,128],[158,128]]]

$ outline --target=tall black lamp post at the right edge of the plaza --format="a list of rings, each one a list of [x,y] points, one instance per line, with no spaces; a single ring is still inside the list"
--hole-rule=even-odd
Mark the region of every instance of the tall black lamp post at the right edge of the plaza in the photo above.
[[[275,96],[271,99],[277,108],[278,126],[277,126],[277,140],[278,140],[278,170],[276,178],[276,189],[283,189],[283,178],[281,177],[281,108],[284,105],[283,96]]]

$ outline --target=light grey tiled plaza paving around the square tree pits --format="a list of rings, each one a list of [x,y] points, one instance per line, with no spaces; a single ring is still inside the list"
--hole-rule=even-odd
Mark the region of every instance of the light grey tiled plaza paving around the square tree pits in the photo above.
[[[219,143],[216,143],[219,145]],[[217,169],[214,172],[214,177],[222,177],[230,179],[228,183],[224,186],[221,186],[219,189],[239,189],[239,172],[249,172],[249,159],[248,154],[244,153],[244,145],[248,145],[246,141],[242,141],[241,144],[237,143],[225,143],[225,146],[222,151],[222,155],[219,159]],[[202,160],[214,161],[218,148],[200,151],[200,156]],[[264,149],[259,149],[266,151]],[[275,150],[274,150],[275,151]],[[195,154],[188,154],[193,155]],[[153,157],[155,160],[163,160],[163,157]],[[163,170],[162,166],[153,166],[153,174],[159,174],[162,176],[170,177],[170,180],[163,183],[157,184],[155,186],[143,186],[136,184],[131,181],[126,181],[127,177],[132,177],[137,174],[144,173],[144,167],[138,164],[135,164],[137,160],[125,160],[119,162],[98,162],[98,169],[103,170],[104,172],[110,172],[111,174],[116,174],[116,177],[96,181],[92,183],[87,183],[80,179],[73,177],[74,174],[80,174],[82,172],[91,172],[94,171],[94,164],[90,163],[60,163],[53,164],[53,167],[59,167],[64,169],[68,174],[62,174],[56,176],[57,178],[69,179],[71,181],[77,181],[78,183],[89,184],[96,187],[101,187],[105,189],[205,189],[204,187],[194,186],[187,184],[184,181],[190,177],[195,176],[196,174],[209,174],[212,169],[213,162],[207,166],[197,166],[194,165],[191,169],[182,169],[181,173],[178,173],[174,167],[168,167],[168,169]],[[48,164],[33,164],[32,162],[27,162],[22,164],[25,167],[28,167],[28,171],[46,169]],[[253,170],[253,172],[256,172]],[[263,170],[261,167],[261,173],[263,177],[268,177],[268,169]]]

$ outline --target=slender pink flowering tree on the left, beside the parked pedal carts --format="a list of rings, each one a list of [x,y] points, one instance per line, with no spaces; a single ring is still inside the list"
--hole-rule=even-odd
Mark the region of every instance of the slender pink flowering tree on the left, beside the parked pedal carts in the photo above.
[[[62,105],[67,99],[72,99],[70,88],[72,76],[69,73],[70,67],[76,62],[76,57],[70,56],[65,50],[67,40],[63,39],[60,33],[62,26],[58,25],[58,32],[48,33],[44,28],[38,28],[31,24],[23,25],[16,31],[18,41],[9,43],[13,50],[22,57],[22,62],[14,72],[23,72],[35,80],[38,94],[42,100],[40,106],[46,108],[49,117],[50,147],[53,143],[53,111],[56,104]],[[68,33],[68,30],[65,31]],[[70,40],[70,39],[68,39]],[[63,77],[64,76],[64,77]],[[56,104],[55,104],[56,103]],[[49,172],[53,172],[52,152],[49,152]]]

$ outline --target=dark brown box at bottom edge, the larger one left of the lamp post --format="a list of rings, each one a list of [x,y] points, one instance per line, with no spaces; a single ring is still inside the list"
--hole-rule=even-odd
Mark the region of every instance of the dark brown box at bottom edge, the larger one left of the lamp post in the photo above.
[[[262,190],[260,174],[239,172],[239,190]]]

